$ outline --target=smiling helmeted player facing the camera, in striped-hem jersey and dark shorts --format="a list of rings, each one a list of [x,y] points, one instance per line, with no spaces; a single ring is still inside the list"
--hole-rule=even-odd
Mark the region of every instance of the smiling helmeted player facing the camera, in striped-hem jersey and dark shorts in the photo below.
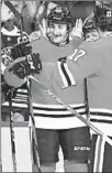
[[[71,15],[67,8],[56,7],[51,11],[47,20],[47,37],[42,36],[36,42],[36,44],[38,43],[36,46],[43,61],[45,61],[45,57],[46,61],[53,57],[53,61],[44,63],[43,71],[35,77],[38,77],[45,86],[87,118],[83,80],[75,89],[74,78],[66,66],[65,57],[69,56],[69,61],[71,61],[76,56],[75,62],[77,62],[85,55],[85,51],[76,48],[77,40],[69,40],[71,25]],[[25,60],[25,57],[22,57],[22,60]],[[19,60],[15,62],[18,63]],[[11,63],[10,67],[15,62]],[[55,63],[58,67],[55,67]],[[18,87],[24,83],[25,74],[23,74],[22,68],[19,69],[20,73],[15,68],[16,64],[9,69],[11,76],[5,71],[5,80],[9,85]],[[13,71],[18,71],[16,75],[19,73],[20,78],[16,79]],[[61,79],[58,79],[60,76],[66,85],[64,88],[59,86]],[[55,172],[60,145],[66,172],[88,172],[89,128],[44,93],[34,82],[31,83],[31,93],[37,128],[41,171]]]

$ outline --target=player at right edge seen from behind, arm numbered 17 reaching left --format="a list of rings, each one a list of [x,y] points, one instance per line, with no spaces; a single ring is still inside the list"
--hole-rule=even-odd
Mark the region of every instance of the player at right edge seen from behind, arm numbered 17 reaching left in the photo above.
[[[77,58],[77,54],[76,54],[75,56],[72,56],[75,57],[72,60],[61,58],[60,61],[58,61],[56,66],[54,64],[47,64],[47,67],[46,68],[44,67],[41,74],[43,78],[44,77],[45,78],[41,79],[40,75],[36,77],[38,80],[41,79],[41,82],[45,86],[51,88],[51,90],[53,90],[58,97],[60,97],[64,100],[66,100],[67,98],[68,104],[69,104],[68,96],[70,96],[70,94],[68,94],[67,96],[66,94],[70,90],[70,88],[74,88],[74,91],[75,91],[75,88],[77,89],[76,84],[79,85],[80,82],[85,77],[88,77],[88,97],[89,97],[89,106],[90,106],[90,113],[91,113],[90,120],[93,125],[100,128],[100,130],[102,130],[103,133],[107,133],[108,136],[112,137],[112,125],[111,125],[112,123],[111,122],[112,58],[110,56],[112,54],[112,36],[111,36],[112,18],[110,14],[111,14],[111,10],[105,9],[105,15],[103,15],[104,21],[101,19],[97,23],[99,24],[98,31],[100,34],[100,40],[96,42],[89,42],[89,43],[87,42],[78,48],[78,52],[80,51],[83,52],[80,58]],[[77,60],[77,61],[74,61],[74,60]],[[66,76],[66,74],[69,74],[69,76]],[[52,77],[48,77],[51,75]],[[47,80],[45,80],[46,78]],[[38,87],[37,86],[34,87],[34,85],[36,85],[35,82],[32,84],[33,89],[34,89],[34,95],[35,95]],[[44,95],[43,91],[41,91],[40,94]],[[36,96],[34,97],[36,100]],[[72,94],[72,97],[70,96],[70,99],[71,98],[74,98],[74,94]],[[48,97],[48,100],[49,99],[52,98]],[[47,122],[45,122],[45,126],[46,123]],[[56,125],[56,121],[55,121],[55,125]],[[54,128],[55,128],[55,125],[53,123]],[[63,125],[64,123],[61,123],[61,126]],[[90,155],[91,155],[90,166],[91,169],[93,169],[92,171],[93,172],[102,172],[102,171],[111,172],[112,171],[112,167],[111,167],[112,147],[105,143],[103,138],[102,140],[100,140],[100,137],[98,134],[93,134],[91,144],[92,144],[91,151],[93,149],[93,152],[90,152]],[[101,145],[102,148],[100,148]],[[99,156],[101,156],[101,160]],[[93,158],[94,158],[94,161],[93,161]]]

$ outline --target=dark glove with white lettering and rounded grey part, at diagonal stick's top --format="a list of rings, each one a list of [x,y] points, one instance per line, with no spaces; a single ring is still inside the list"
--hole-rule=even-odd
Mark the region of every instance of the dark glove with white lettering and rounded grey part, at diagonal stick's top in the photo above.
[[[21,87],[29,75],[38,74],[42,69],[42,63],[38,54],[20,57],[5,68],[4,80],[9,86]]]

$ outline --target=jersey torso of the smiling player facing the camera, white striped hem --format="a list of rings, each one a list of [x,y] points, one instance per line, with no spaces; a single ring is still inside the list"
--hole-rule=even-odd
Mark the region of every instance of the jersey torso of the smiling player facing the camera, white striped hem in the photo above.
[[[77,47],[81,44],[82,40],[72,40],[64,47],[52,44],[45,37],[41,37],[33,44],[33,51],[40,53],[40,56],[45,64],[43,64],[43,71],[37,77],[44,85],[52,90],[61,100],[69,104],[75,110],[80,112],[81,116],[87,117],[86,104],[85,104],[85,86],[83,80],[75,88],[71,86],[68,89],[63,89],[58,86],[58,72],[54,73],[54,65],[56,60],[58,66],[61,66],[61,58],[72,58],[77,53]],[[81,55],[81,52],[80,52]],[[80,57],[78,54],[78,56]],[[53,62],[53,63],[52,63]],[[60,65],[59,65],[60,64]],[[66,77],[69,72],[67,72]],[[54,80],[54,75],[57,79]],[[70,129],[76,127],[86,126],[71,112],[66,110],[56,100],[54,100],[48,94],[44,93],[34,82],[32,82],[32,96],[33,96],[33,110],[35,116],[35,125],[42,129]]]

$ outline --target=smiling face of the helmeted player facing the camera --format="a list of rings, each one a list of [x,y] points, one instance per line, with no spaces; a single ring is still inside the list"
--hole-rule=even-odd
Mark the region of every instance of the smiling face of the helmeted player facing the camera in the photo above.
[[[68,36],[67,24],[49,23],[48,37],[54,44],[61,44]]]

